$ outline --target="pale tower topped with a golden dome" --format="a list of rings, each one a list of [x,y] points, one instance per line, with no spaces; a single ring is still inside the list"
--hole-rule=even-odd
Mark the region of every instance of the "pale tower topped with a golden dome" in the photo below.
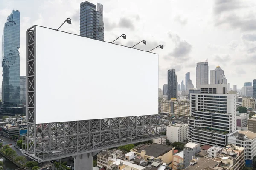
[[[224,75],[224,71],[221,70],[220,66],[217,66],[215,70],[210,71],[210,84],[227,84],[227,79]]]

